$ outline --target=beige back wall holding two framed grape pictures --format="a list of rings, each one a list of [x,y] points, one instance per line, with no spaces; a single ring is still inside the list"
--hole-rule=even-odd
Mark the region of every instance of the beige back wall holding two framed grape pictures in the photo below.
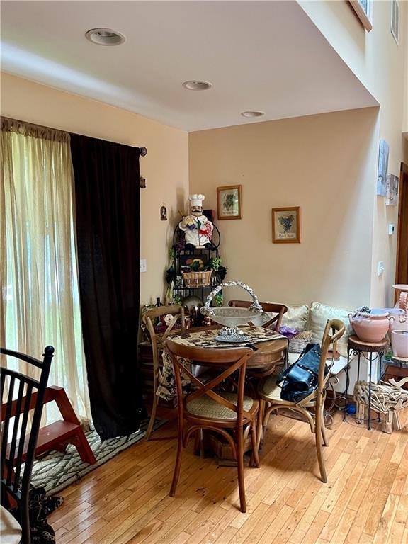
[[[260,300],[368,304],[377,119],[366,108],[190,134],[205,207],[217,186],[242,184],[242,220],[217,222],[228,279]],[[272,244],[271,209],[285,205],[301,207],[301,244]]]

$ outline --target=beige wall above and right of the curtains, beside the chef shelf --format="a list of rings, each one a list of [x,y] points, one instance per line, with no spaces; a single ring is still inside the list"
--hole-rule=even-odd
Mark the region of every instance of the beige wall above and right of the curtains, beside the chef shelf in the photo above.
[[[188,193],[187,133],[10,74],[1,74],[1,113],[86,136],[147,147],[147,156],[140,158],[140,171],[147,179],[147,188],[140,190],[140,254],[147,259],[147,273],[141,274],[140,302],[162,296],[174,217]],[[160,221],[163,203],[169,210],[170,220],[166,222]]]

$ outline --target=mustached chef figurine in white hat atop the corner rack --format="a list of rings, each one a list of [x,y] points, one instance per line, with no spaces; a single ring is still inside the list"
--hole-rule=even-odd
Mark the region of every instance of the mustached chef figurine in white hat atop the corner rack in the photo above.
[[[186,234],[186,249],[211,248],[212,222],[203,215],[204,195],[190,195],[190,213],[179,222],[179,228]]]

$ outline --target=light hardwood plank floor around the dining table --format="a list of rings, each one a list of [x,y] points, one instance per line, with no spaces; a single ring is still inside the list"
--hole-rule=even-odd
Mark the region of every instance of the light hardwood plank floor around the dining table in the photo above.
[[[57,544],[407,544],[408,411],[401,419],[387,435],[336,414],[322,484],[309,426],[271,417],[261,467],[245,470],[246,514],[237,470],[194,456],[193,441],[169,497],[173,420],[64,489],[49,521]]]

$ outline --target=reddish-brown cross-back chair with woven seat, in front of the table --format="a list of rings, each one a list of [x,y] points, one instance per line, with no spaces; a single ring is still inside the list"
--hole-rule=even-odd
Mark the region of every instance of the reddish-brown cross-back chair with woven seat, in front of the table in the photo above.
[[[244,395],[246,361],[252,355],[250,348],[203,349],[179,344],[170,339],[164,346],[171,356],[176,376],[178,398],[177,455],[170,495],[176,493],[181,470],[181,455],[188,438],[201,429],[221,434],[229,443],[237,460],[240,510],[246,512],[244,487],[244,441],[251,433],[252,457],[250,464],[259,467],[256,441],[256,414],[259,402]],[[179,357],[209,366],[215,375],[203,382],[186,369]],[[181,373],[188,375],[193,387],[183,395]],[[237,373],[236,392],[220,390],[222,382]],[[228,432],[229,431],[229,432]]]

